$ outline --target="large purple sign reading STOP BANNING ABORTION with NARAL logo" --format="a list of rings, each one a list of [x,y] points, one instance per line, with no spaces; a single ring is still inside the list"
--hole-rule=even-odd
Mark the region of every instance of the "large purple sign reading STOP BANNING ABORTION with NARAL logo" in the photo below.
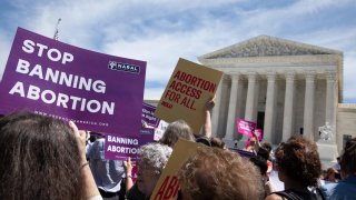
[[[0,84],[0,113],[29,110],[85,130],[138,136],[145,74],[145,61],[18,28]]]

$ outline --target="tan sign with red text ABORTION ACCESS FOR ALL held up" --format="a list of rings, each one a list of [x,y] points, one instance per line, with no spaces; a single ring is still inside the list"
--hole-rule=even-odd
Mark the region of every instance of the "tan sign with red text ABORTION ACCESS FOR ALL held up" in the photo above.
[[[167,122],[185,120],[198,133],[205,122],[205,103],[215,96],[222,72],[179,59],[155,116]]]

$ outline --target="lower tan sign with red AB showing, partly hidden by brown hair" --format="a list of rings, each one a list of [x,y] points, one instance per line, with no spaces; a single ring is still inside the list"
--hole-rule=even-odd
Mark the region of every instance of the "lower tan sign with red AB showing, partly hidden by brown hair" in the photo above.
[[[159,177],[150,200],[177,199],[179,190],[177,172],[181,164],[196,152],[198,147],[205,146],[184,139],[178,140],[164,172]]]

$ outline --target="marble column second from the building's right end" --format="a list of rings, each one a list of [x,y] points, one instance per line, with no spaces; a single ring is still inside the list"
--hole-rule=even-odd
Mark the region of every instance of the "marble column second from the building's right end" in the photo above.
[[[305,73],[303,136],[310,140],[314,140],[315,74],[315,71],[307,71]]]

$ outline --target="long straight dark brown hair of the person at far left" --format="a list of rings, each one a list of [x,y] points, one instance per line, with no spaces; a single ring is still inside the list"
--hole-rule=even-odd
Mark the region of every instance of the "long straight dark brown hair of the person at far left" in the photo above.
[[[73,131],[30,112],[0,119],[0,199],[81,199]]]

